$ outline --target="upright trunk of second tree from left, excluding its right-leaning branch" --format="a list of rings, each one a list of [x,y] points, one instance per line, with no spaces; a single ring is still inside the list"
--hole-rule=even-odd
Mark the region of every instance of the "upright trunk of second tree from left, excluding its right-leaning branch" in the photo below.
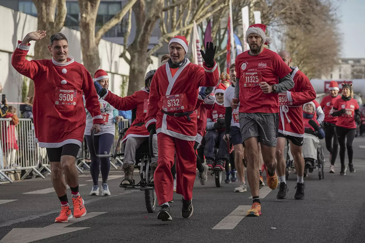
[[[100,0],[78,0],[80,6],[81,51],[84,66],[91,75],[100,66],[99,49],[95,38],[95,21]]]

